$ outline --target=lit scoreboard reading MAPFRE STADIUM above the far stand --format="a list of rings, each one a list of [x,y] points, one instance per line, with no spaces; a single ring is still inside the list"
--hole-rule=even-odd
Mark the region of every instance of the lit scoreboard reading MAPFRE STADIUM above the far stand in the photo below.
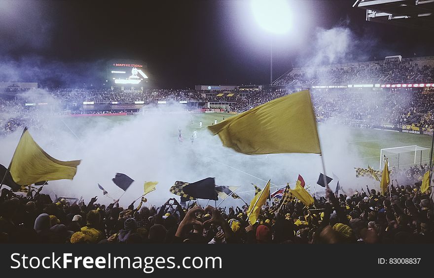
[[[107,79],[114,85],[140,85],[147,82],[147,65],[140,60],[115,59],[107,62]]]

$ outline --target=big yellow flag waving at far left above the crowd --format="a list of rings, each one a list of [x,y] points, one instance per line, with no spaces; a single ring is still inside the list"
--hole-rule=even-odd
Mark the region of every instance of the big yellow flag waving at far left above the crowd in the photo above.
[[[12,157],[10,174],[18,185],[72,180],[79,164],[80,160],[60,161],[51,157],[36,144],[25,128]]]

